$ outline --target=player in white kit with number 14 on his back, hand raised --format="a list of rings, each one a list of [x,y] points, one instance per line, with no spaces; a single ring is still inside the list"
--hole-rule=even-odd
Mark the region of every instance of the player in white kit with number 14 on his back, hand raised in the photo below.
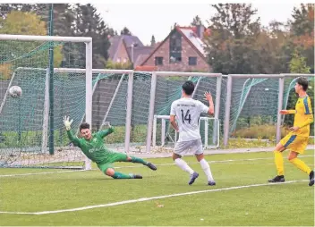
[[[183,171],[190,173],[191,179],[188,184],[192,185],[198,178],[199,173],[194,172],[181,158],[186,152],[192,152],[207,175],[208,185],[213,186],[216,185],[216,182],[213,180],[210,166],[203,156],[199,130],[200,114],[214,113],[212,97],[208,92],[205,93],[205,99],[209,101],[209,106],[207,106],[198,100],[192,99],[195,88],[192,81],[185,81],[182,88],[182,98],[175,100],[171,106],[170,122],[174,129],[179,132],[179,138],[174,147],[173,160]]]

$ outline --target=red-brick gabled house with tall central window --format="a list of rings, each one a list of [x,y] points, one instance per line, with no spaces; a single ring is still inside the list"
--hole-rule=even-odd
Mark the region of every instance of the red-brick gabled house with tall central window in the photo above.
[[[204,32],[202,25],[175,26],[138,69],[156,66],[158,71],[211,71],[202,41]]]

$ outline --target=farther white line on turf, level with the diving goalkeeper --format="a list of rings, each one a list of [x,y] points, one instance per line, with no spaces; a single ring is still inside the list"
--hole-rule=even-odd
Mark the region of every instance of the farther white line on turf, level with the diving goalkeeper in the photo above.
[[[303,158],[303,157],[314,157],[314,156],[300,156],[300,158]],[[217,163],[257,161],[257,160],[268,160],[268,159],[274,159],[274,157],[258,157],[258,158],[246,158],[246,159],[227,159],[227,160],[209,161],[208,163],[209,164],[217,164]],[[188,163],[188,164],[198,164],[198,163],[194,162],[194,163]],[[156,166],[167,166],[167,165],[175,165],[175,164],[174,163],[173,164],[156,164]],[[126,165],[126,166],[115,167],[115,169],[140,168],[140,167],[145,167],[145,166],[144,165]],[[93,169],[93,170],[98,170],[98,169]],[[64,172],[84,172],[84,171],[86,171],[86,170],[58,171],[58,172],[30,172],[30,173],[0,175],[0,178],[2,178],[2,177],[31,176],[31,175],[45,175],[45,174],[64,173]]]

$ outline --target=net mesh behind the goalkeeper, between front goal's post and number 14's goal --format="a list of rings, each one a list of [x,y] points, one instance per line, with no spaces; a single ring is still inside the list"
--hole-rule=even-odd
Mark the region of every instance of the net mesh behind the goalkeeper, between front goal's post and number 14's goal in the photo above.
[[[106,138],[106,143],[110,147],[125,152],[123,144],[126,130],[129,75],[103,74],[96,79],[95,83],[93,127],[98,130],[103,129],[105,122],[115,126],[115,133]],[[146,143],[150,84],[151,75],[149,73],[133,73],[131,150],[144,146]]]

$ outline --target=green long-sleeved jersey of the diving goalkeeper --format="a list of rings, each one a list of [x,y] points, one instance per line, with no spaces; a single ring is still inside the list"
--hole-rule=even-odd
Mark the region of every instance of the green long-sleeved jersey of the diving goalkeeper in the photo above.
[[[105,146],[104,138],[114,132],[113,128],[108,130],[100,130],[93,133],[91,139],[77,138],[72,134],[72,130],[67,130],[68,138],[74,146],[80,147],[85,156],[89,157],[92,162],[97,164],[106,163],[107,159],[113,155],[113,151]]]

